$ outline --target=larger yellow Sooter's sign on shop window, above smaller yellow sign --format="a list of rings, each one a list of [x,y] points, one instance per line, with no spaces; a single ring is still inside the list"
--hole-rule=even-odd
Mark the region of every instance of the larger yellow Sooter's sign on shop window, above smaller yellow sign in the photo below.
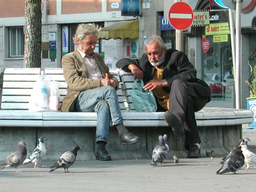
[[[228,23],[214,23],[205,27],[205,35],[230,34]]]

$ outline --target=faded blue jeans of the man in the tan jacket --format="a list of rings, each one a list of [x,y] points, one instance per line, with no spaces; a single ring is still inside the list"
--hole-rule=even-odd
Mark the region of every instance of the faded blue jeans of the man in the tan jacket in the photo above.
[[[80,92],[75,110],[97,112],[96,142],[108,142],[110,117],[112,125],[123,123],[116,89],[108,85]]]

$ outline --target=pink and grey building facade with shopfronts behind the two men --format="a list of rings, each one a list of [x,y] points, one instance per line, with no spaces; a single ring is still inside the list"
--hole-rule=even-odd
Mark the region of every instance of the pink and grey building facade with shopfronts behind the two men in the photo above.
[[[174,1],[174,0],[173,0]],[[145,52],[145,42],[152,34],[162,36],[168,48],[175,48],[176,38],[168,20],[164,17],[167,0],[42,0],[42,64],[44,68],[60,68],[64,54],[74,51],[72,41],[79,23],[91,23],[102,28],[123,20],[139,20],[137,38],[99,39],[95,52],[105,58],[109,68],[115,68],[116,61],[140,58]],[[253,3],[254,1],[252,1]],[[25,25],[24,0],[0,0],[0,68],[23,67],[23,41]],[[197,69],[197,77],[209,84],[212,101],[209,107],[235,107],[234,70],[229,30],[228,9],[215,1],[188,1],[193,10],[209,10],[209,25],[190,27],[184,31],[184,52]],[[129,4],[129,5],[128,5]],[[122,6],[140,5],[140,14],[122,16]],[[255,2],[254,2],[255,4]],[[130,7],[132,9],[132,7]],[[233,11],[235,17],[235,12]],[[234,19],[235,20],[235,19]],[[218,28],[222,29],[220,33]],[[124,29],[125,30],[125,29]],[[223,32],[225,31],[225,32]],[[245,80],[251,77],[248,64],[255,63],[256,8],[241,13],[241,98],[249,88]]]

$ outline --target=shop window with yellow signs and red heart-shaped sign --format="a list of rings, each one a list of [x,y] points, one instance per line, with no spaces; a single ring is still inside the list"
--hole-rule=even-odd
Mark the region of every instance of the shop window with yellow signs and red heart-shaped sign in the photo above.
[[[214,15],[219,20],[210,22],[202,35],[202,79],[210,86],[212,100],[233,101],[234,75],[228,15],[223,11],[214,12]]]

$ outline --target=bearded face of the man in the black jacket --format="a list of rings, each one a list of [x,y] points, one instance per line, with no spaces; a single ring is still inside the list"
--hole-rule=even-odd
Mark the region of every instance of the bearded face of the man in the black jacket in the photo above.
[[[166,50],[162,51],[157,42],[146,46],[148,61],[153,66],[159,66],[163,63]]]

